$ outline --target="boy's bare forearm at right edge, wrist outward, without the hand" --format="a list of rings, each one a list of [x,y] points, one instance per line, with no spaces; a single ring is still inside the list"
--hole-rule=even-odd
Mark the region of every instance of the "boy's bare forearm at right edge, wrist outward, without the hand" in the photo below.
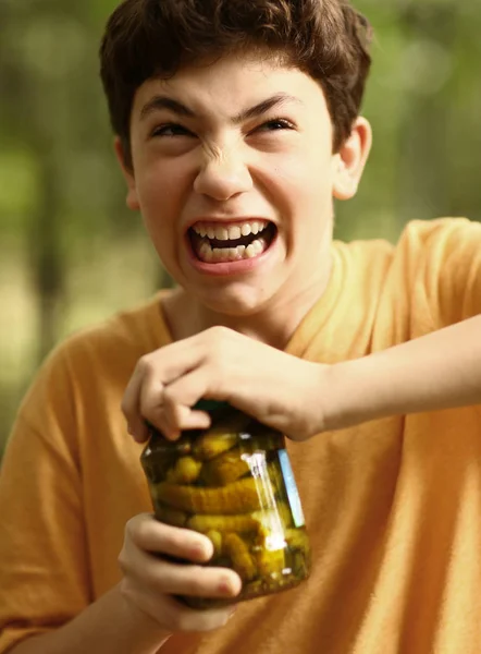
[[[481,404],[481,316],[332,366],[325,428]]]

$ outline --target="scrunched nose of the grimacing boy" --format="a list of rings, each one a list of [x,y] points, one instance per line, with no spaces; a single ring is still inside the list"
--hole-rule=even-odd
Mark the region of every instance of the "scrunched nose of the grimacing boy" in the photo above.
[[[194,182],[194,191],[224,202],[252,187],[249,168],[243,159],[242,148],[206,153]]]

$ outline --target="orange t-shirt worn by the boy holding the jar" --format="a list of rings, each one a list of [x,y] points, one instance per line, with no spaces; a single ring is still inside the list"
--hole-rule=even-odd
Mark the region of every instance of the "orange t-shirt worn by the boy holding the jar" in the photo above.
[[[411,222],[396,246],[333,244],[329,287],[287,351],[335,363],[479,313],[481,225]],[[0,653],[119,582],[125,523],[151,510],[120,402],[139,356],[170,340],[157,295],[42,366],[0,475]],[[379,420],[288,451],[309,581],[162,652],[479,654],[481,408]]]

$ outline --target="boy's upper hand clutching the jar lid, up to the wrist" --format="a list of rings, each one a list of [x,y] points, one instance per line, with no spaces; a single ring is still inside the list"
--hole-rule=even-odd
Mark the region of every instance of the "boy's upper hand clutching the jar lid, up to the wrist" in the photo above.
[[[143,356],[122,410],[138,441],[146,421],[166,438],[207,428],[210,417],[192,407],[223,400],[295,440],[323,429],[321,388],[331,366],[303,361],[225,327],[213,327]]]

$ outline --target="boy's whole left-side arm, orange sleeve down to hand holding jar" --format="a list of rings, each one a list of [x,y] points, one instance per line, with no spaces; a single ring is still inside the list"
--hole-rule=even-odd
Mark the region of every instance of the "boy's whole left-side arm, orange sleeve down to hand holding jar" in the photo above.
[[[128,520],[118,561],[122,581],[94,602],[87,480],[79,474],[70,410],[75,396],[61,354],[27,395],[2,461],[0,652],[155,654],[170,633],[221,627],[232,608],[195,611],[172,595],[233,597],[238,577],[200,568],[212,555],[211,542],[151,516]],[[162,553],[195,565],[172,564]]]

